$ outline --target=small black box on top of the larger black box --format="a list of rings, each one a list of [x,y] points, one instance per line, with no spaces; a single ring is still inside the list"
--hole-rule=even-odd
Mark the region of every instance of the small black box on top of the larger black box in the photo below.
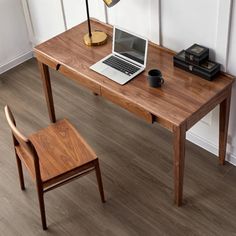
[[[185,51],[185,60],[194,65],[200,65],[209,58],[209,48],[193,44]]]

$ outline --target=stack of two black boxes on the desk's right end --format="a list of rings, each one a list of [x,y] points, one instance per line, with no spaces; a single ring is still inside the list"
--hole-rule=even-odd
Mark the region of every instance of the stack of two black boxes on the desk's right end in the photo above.
[[[213,80],[220,72],[220,64],[209,60],[209,48],[198,44],[175,55],[174,66],[207,80]]]

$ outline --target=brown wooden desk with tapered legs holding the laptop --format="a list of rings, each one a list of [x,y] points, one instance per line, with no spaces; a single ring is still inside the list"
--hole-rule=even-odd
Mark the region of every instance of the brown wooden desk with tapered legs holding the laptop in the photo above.
[[[149,44],[146,71],[124,86],[89,69],[112,50],[112,27],[91,21],[93,29],[109,35],[108,43],[88,47],[83,43],[87,23],[82,23],[35,47],[50,120],[56,121],[48,67],[59,71],[133,112],[147,122],[158,122],[173,132],[175,203],[182,204],[186,131],[220,104],[219,160],[224,164],[233,78],[220,75],[209,82],[173,67],[173,52]],[[165,78],[162,88],[150,88],[147,71],[159,68]]]

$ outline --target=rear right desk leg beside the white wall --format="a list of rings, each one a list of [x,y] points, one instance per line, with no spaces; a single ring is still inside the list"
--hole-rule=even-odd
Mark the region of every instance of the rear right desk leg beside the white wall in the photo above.
[[[225,163],[229,111],[230,111],[231,90],[228,97],[220,104],[220,127],[219,127],[219,161],[221,165]]]

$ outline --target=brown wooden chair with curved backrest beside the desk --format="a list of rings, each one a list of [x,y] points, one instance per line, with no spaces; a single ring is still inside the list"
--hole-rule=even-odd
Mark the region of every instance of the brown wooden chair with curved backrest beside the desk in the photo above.
[[[8,106],[5,114],[10,125],[19,171],[20,187],[25,189],[22,163],[36,183],[43,229],[47,229],[44,193],[95,170],[102,202],[105,202],[101,172],[96,154],[68,120],[26,138],[16,128]]]

